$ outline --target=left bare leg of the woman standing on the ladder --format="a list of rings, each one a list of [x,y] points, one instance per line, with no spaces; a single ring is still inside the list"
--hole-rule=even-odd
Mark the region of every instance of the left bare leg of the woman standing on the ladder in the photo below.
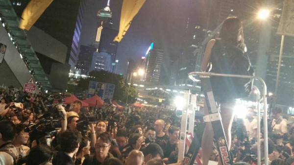
[[[206,101],[204,101],[204,116],[208,115]],[[207,165],[212,149],[213,149],[213,129],[211,122],[206,122],[204,132],[202,135],[201,149],[202,149],[202,164]]]

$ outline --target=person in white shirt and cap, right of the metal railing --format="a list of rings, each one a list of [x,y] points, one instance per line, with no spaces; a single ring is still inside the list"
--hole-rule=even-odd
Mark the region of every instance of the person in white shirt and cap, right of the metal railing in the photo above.
[[[271,123],[271,128],[272,133],[275,135],[274,137],[276,137],[275,142],[277,145],[283,144],[283,138],[286,137],[286,134],[288,133],[287,121],[286,119],[282,118],[281,113],[281,108],[275,107],[272,110],[273,120]]]

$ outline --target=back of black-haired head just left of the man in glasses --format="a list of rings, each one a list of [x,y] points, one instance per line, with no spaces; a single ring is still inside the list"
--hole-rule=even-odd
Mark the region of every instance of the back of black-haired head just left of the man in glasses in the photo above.
[[[60,151],[72,153],[81,141],[81,134],[75,130],[67,130],[60,135]]]

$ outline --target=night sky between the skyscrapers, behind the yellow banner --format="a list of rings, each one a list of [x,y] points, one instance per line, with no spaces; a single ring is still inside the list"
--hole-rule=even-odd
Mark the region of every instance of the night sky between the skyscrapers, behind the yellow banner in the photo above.
[[[123,0],[111,0],[113,28],[119,29]],[[96,35],[96,15],[107,5],[107,0],[88,0],[85,9],[80,45],[91,44]],[[193,15],[196,0],[146,0],[133,19],[123,40],[119,43],[117,59],[118,71],[124,73],[127,60],[140,60],[154,42],[154,46],[164,49],[172,59],[180,57],[186,32],[187,19]]]

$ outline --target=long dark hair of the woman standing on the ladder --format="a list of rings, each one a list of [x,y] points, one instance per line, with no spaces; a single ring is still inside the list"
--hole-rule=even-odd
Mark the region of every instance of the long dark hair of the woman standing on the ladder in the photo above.
[[[241,41],[238,37],[241,35]],[[244,43],[243,24],[237,17],[229,17],[224,20],[219,37],[227,46],[238,46]]]

